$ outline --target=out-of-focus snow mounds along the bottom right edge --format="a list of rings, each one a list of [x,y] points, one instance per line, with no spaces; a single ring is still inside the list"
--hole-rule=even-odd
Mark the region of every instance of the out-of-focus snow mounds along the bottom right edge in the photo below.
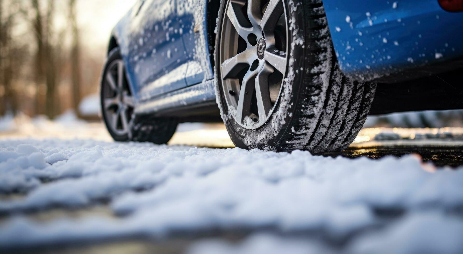
[[[460,253],[461,235],[461,218],[431,212],[407,215],[383,232],[361,234],[344,250],[300,236],[258,233],[238,244],[217,239],[199,241],[190,246],[188,254]]]

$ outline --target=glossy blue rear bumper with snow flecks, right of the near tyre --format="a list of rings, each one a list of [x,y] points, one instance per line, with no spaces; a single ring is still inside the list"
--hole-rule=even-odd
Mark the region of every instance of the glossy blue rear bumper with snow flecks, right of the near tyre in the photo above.
[[[324,0],[324,6],[347,75],[370,80],[463,57],[463,13],[444,11],[438,0]]]

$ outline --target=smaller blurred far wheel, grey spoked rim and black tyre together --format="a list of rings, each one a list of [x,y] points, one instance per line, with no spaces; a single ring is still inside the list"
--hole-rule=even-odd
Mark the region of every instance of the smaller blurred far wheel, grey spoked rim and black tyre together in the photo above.
[[[118,48],[108,55],[100,95],[103,121],[114,140],[165,144],[174,135],[176,119],[134,114],[135,100]]]

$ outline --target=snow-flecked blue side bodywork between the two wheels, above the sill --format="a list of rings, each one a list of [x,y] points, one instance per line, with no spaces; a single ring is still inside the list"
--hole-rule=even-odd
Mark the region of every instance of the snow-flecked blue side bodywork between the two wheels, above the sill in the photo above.
[[[201,0],[139,0],[113,30],[138,104],[212,77],[211,63],[208,61],[208,73],[198,72],[195,67],[200,61],[194,57],[198,46],[194,15],[202,15],[204,24],[198,27],[206,27],[206,10],[181,10],[177,4],[185,1]],[[159,9],[164,11],[163,18],[153,16]],[[197,32],[207,38],[204,29]],[[205,54],[209,54],[207,47]]]

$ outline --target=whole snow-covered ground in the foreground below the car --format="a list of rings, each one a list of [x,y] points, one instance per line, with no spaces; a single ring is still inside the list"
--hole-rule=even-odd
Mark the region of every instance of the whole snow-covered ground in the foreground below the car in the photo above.
[[[0,250],[463,251],[463,168],[417,155],[11,137],[0,139]]]

